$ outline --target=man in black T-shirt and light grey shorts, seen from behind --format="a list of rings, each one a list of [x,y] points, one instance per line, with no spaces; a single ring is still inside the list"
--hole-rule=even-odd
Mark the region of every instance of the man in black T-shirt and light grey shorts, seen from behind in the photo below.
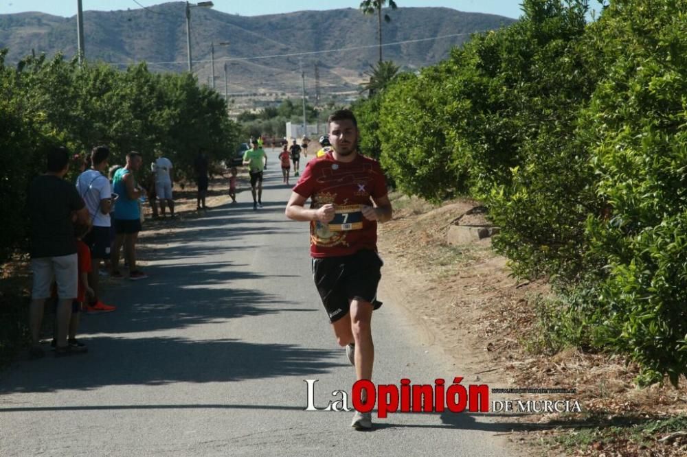
[[[30,305],[32,347],[30,358],[41,358],[40,334],[45,300],[53,279],[59,301],[56,312],[56,355],[70,355],[67,343],[71,301],[78,292],[78,257],[74,225],[88,224],[89,213],[74,185],[63,178],[69,171],[65,148],[47,152],[47,172],[32,181],[27,204],[31,220],[31,270],[33,286]]]

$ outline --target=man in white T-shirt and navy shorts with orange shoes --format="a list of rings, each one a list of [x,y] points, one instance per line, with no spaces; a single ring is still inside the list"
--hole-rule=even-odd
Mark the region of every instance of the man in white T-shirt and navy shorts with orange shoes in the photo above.
[[[110,209],[112,208],[112,189],[110,180],[104,175],[108,167],[110,150],[107,146],[95,146],[91,151],[91,168],[76,179],[76,190],[86,203],[93,228],[83,238],[91,251],[91,272],[88,282],[95,296],[86,305],[87,312],[111,312],[114,306],[100,301],[100,261],[110,257]]]

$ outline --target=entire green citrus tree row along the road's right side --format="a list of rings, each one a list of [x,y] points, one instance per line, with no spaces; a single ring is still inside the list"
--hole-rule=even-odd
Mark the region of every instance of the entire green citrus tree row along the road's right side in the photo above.
[[[589,24],[585,0],[522,6],[518,23],[354,105],[361,149],[409,194],[483,200],[515,274],[560,294],[571,341],[630,355],[640,383],[677,383],[687,3],[610,1]]]

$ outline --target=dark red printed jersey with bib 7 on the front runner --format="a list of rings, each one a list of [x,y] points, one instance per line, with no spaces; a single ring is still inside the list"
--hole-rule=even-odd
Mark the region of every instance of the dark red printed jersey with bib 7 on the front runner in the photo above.
[[[372,206],[372,198],[387,194],[377,161],[358,154],[350,163],[339,162],[329,152],[308,162],[293,191],[312,198],[311,208],[328,203],[335,206],[331,222],[310,223],[311,256],[339,257],[361,249],[377,250],[377,223],[361,213],[362,205]]]

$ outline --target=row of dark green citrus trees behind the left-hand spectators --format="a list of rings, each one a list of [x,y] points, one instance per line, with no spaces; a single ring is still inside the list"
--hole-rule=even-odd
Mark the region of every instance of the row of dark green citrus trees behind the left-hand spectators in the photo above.
[[[0,261],[25,236],[25,190],[44,171],[47,145],[65,145],[83,156],[94,145],[109,145],[111,165],[124,164],[126,153],[136,150],[144,157],[140,178],[160,151],[183,178],[193,175],[199,148],[221,160],[238,140],[223,98],[188,74],[154,74],[144,64],[125,71],[88,62],[80,67],[60,56],[28,57],[10,67],[5,54],[0,53],[0,217],[11,222],[3,224]]]

